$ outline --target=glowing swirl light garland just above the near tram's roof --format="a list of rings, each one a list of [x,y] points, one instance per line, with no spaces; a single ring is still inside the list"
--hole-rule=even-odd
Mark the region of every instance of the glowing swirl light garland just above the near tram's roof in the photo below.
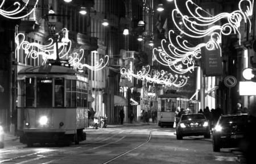
[[[107,61],[104,62],[104,59],[101,58],[100,62],[96,61],[94,66],[90,66],[88,64],[81,64],[82,57],[84,56],[84,49],[80,49],[81,54],[73,53],[73,56],[69,56],[69,51],[71,49],[72,42],[68,39],[68,30],[67,28],[63,29],[63,38],[61,39],[61,42],[58,42],[58,48],[60,59],[63,59],[64,57],[68,56],[69,64],[73,67],[73,69],[82,69],[84,67],[89,68],[90,70],[101,70],[105,68],[105,66],[108,64],[109,56],[106,55],[105,58],[107,58]],[[21,38],[19,41],[19,38]],[[56,59],[56,44],[54,43],[53,39],[49,39],[50,43],[48,45],[40,45],[38,43],[29,43],[28,41],[25,41],[25,35],[23,33],[18,33],[18,35],[15,36],[15,43],[16,43],[16,54],[19,56],[19,50],[23,49],[24,53],[26,54],[25,59],[31,57],[31,58],[38,58],[40,55],[43,58],[43,64],[46,64],[48,59]],[[58,39],[59,41],[59,39]],[[69,44],[69,48],[67,52],[64,54],[63,51],[66,47],[66,45]],[[36,48],[38,48],[38,51],[36,51]],[[95,54],[96,55],[96,54]],[[79,57],[80,56],[80,57]],[[105,64],[104,64],[105,63]],[[25,60],[25,64],[26,60]]]

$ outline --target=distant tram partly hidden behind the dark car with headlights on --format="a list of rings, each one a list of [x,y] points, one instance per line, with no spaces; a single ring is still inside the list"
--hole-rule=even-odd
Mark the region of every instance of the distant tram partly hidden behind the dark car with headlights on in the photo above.
[[[186,96],[164,94],[158,96],[158,126],[173,126],[177,107],[188,108],[189,101]]]

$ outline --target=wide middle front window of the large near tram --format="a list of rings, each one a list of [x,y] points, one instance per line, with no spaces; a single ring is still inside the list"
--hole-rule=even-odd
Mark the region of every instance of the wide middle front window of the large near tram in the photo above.
[[[52,78],[37,78],[36,106],[52,107]]]

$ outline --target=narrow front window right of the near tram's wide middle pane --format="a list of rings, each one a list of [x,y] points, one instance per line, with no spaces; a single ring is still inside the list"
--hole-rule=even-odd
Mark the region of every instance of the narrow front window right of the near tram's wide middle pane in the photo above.
[[[55,79],[55,107],[64,107],[64,79]]]

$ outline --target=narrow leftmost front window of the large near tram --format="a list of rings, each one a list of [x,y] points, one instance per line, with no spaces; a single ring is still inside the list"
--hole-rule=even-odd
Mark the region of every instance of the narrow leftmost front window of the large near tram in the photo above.
[[[26,78],[26,107],[35,107],[35,78]]]

